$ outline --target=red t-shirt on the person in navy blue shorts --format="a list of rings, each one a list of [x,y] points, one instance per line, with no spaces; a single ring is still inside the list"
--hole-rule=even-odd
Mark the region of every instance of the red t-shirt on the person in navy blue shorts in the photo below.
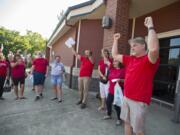
[[[48,60],[45,58],[36,58],[33,61],[33,64],[35,66],[35,71],[40,73],[46,73],[47,66],[49,65]]]

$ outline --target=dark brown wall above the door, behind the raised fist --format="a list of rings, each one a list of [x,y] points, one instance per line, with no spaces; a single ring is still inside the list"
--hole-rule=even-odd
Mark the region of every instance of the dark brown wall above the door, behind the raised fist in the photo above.
[[[144,18],[152,16],[157,33],[180,29],[180,1],[136,18],[135,36],[147,35]]]

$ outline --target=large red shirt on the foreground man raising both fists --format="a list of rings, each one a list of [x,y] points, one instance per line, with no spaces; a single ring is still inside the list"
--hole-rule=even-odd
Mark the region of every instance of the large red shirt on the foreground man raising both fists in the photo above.
[[[132,100],[149,104],[152,96],[153,79],[159,62],[160,59],[152,64],[147,55],[138,58],[123,56],[123,64],[126,66],[124,95]]]

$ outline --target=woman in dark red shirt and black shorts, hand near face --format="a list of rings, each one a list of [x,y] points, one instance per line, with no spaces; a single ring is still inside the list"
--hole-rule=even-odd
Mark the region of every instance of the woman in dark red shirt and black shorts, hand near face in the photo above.
[[[11,76],[14,84],[14,91],[16,98],[25,99],[24,97],[24,83],[25,83],[25,63],[19,54],[14,56],[14,61],[11,62]],[[18,85],[20,84],[20,96],[18,93]]]

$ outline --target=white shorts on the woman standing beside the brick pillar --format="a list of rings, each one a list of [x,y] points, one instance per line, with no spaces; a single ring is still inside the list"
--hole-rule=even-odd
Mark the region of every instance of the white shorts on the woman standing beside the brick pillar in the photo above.
[[[100,96],[106,98],[108,95],[109,82],[107,84],[99,82]]]

